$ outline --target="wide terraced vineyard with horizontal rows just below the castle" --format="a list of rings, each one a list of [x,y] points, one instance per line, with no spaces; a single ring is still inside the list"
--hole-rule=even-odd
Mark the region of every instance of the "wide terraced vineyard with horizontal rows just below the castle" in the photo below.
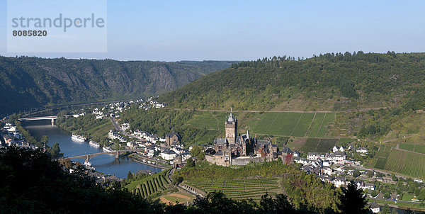
[[[276,178],[187,181],[188,185],[207,193],[222,191],[229,198],[259,201],[264,194],[281,193],[280,180]]]

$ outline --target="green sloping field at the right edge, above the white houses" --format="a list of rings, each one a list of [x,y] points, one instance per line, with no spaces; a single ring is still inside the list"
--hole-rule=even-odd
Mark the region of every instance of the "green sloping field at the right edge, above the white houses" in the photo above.
[[[385,153],[389,154],[387,159],[378,157],[375,168],[394,171],[417,179],[425,179],[425,155],[402,150],[385,151]]]

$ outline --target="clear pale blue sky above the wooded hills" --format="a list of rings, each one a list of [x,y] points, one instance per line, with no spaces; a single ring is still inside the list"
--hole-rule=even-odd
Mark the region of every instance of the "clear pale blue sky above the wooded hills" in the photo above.
[[[106,52],[17,53],[7,52],[0,0],[0,55],[179,61],[425,52],[424,9],[425,1],[109,0]]]

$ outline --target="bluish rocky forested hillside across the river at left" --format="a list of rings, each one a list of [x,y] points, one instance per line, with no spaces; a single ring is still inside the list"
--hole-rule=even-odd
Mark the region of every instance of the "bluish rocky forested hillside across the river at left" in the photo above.
[[[0,57],[0,115],[45,105],[162,94],[231,64]]]

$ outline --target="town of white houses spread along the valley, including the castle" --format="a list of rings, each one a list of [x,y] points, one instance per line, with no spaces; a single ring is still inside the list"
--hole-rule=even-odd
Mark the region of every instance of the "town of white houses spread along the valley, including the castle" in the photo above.
[[[385,186],[397,184],[398,179],[394,174],[385,174],[381,171],[373,171],[362,166],[361,161],[353,159],[354,154],[365,156],[368,149],[365,147],[355,147],[355,141],[351,142],[347,147],[334,146],[331,151],[326,153],[307,152],[302,154],[297,150],[291,150],[289,147],[278,147],[271,140],[260,140],[253,137],[249,130],[242,135],[238,131],[238,118],[230,110],[229,115],[223,121],[225,127],[225,137],[216,138],[213,142],[201,145],[185,146],[181,142],[181,135],[174,128],[164,136],[149,133],[144,130],[132,130],[129,123],[117,123],[123,113],[130,106],[137,105],[138,108],[149,111],[152,108],[164,108],[164,103],[159,103],[154,97],[148,98],[146,101],[128,101],[109,103],[103,107],[85,108],[79,111],[72,111],[65,117],[82,118],[94,115],[96,120],[109,119],[113,121],[115,128],[109,130],[108,145],[101,145],[93,140],[89,141],[89,145],[93,147],[101,147],[103,152],[116,152],[118,150],[134,150],[135,152],[125,153],[129,155],[135,162],[147,164],[152,167],[162,169],[173,168],[179,170],[184,167],[188,161],[198,161],[198,157],[191,154],[193,147],[200,147],[205,160],[210,164],[217,164],[224,167],[237,167],[241,165],[256,162],[272,162],[278,161],[283,164],[295,164],[307,174],[314,174],[321,181],[333,184],[336,188],[346,188],[350,181],[354,181],[357,188],[363,191],[368,198],[378,198],[386,201],[402,201],[402,194],[388,192]],[[30,145],[25,137],[19,133],[16,125],[5,123],[1,129],[1,138],[3,147],[26,147],[37,150],[38,146]],[[72,134],[72,139],[86,142],[84,135]],[[348,158],[348,156],[350,158]],[[189,160],[190,159],[190,160]],[[67,162],[69,159],[62,159]],[[72,172],[81,166],[78,162],[73,162],[69,171]],[[103,174],[91,167],[90,162],[82,164],[85,167],[86,174],[96,178],[99,185],[108,186],[110,181],[123,181],[113,175]],[[154,174],[152,171],[135,171],[137,174]],[[412,179],[411,179],[412,180]],[[108,181],[108,182],[106,182]],[[409,183],[410,182],[410,183]],[[414,179],[404,181],[404,186],[418,184],[423,186],[423,181]],[[377,186],[378,185],[378,186]],[[185,184],[181,186],[186,191],[192,191],[198,194],[193,187]],[[412,202],[420,203],[419,198],[413,196]],[[380,211],[380,207],[376,203],[370,204],[374,213]]]

